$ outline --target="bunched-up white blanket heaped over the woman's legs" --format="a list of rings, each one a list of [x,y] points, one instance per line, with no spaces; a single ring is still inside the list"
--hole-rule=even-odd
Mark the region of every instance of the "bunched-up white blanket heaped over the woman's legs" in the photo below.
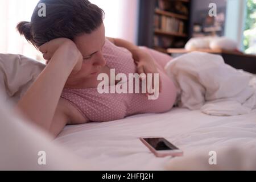
[[[225,64],[219,55],[187,53],[171,60],[166,71],[177,86],[180,107],[209,115],[240,115],[255,108],[253,76]]]

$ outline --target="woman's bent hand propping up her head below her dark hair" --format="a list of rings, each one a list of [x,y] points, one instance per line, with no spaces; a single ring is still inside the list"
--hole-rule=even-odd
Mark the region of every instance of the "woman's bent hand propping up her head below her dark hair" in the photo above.
[[[68,52],[67,52],[68,49]],[[79,57],[76,61],[76,65],[73,68],[73,72],[78,72],[80,71],[82,67],[82,55],[79,49],[77,49],[76,44],[73,43],[72,40],[67,39],[67,38],[57,38],[53,39],[42,46],[39,47],[39,51],[43,53],[43,57],[46,60],[46,64],[48,64],[52,57],[58,53],[58,54],[63,54],[63,53],[70,53],[76,55]],[[73,55],[72,55],[73,57]]]

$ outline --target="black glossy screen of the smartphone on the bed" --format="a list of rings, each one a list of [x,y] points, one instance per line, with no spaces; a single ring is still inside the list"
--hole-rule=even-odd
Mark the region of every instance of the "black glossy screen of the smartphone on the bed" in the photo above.
[[[179,150],[164,138],[143,138],[155,150]]]

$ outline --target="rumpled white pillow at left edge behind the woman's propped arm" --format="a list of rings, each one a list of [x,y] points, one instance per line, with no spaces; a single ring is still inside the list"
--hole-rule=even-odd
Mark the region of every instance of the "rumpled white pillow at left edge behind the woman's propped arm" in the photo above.
[[[0,53],[0,91],[5,101],[18,102],[45,67],[26,56]]]

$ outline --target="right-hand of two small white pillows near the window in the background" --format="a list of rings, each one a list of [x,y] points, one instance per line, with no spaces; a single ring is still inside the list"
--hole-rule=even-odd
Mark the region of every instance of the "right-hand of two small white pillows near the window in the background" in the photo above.
[[[221,38],[213,39],[210,42],[210,48],[234,51],[237,49],[237,43],[232,39],[221,37]]]

